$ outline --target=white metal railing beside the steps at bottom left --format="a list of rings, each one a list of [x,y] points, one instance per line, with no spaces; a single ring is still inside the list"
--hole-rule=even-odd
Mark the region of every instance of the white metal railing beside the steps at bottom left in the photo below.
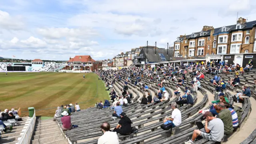
[[[18,140],[18,144],[29,144],[30,139],[32,137],[34,126],[36,124],[36,111],[34,110],[34,115],[31,118],[30,122],[28,123],[28,127],[26,128],[24,134],[22,134],[22,137],[20,140]]]

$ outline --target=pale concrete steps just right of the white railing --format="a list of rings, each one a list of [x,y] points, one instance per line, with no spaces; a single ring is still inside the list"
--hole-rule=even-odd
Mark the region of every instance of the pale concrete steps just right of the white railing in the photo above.
[[[57,122],[37,119],[31,144],[68,144]]]

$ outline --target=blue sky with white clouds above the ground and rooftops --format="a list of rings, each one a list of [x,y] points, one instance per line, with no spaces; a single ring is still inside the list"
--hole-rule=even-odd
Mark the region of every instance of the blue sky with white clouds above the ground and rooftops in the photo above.
[[[0,56],[113,58],[180,35],[256,20],[256,0],[0,0]]]

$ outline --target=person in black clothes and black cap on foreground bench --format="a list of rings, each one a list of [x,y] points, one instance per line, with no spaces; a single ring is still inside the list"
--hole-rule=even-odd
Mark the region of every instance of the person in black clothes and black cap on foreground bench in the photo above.
[[[116,128],[114,128],[113,132],[119,133],[121,135],[127,135],[132,133],[132,121],[128,116],[126,116],[125,112],[120,114],[121,119],[119,120]]]

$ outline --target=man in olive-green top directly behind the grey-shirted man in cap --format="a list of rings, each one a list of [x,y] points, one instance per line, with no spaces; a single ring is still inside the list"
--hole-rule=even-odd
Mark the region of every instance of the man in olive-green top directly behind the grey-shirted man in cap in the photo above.
[[[224,134],[230,134],[233,132],[234,128],[230,110],[225,108],[225,104],[223,102],[218,103],[216,110],[220,110],[216,117],[220,118],[224,123]]]

